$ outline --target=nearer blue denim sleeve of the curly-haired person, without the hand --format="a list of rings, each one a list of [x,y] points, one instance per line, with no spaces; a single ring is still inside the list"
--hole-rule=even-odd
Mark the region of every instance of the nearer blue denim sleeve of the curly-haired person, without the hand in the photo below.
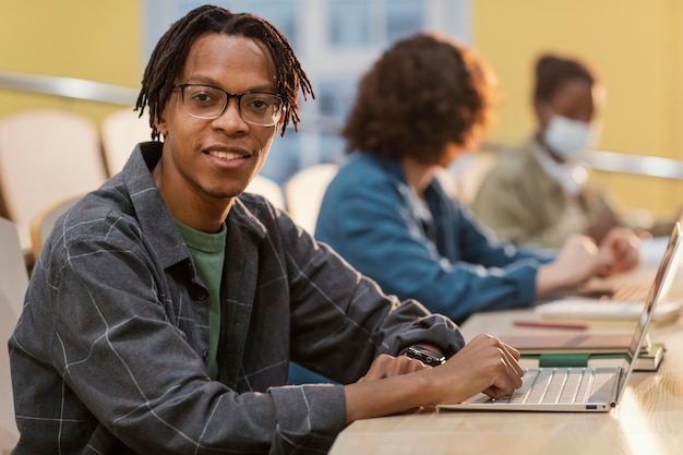
[[[334,183],[334,182],[333,182]],[[540,262],[516,258],[514,249],[495,255],[510,259],[504,266],[467,263],[442,256],[411,218],[405,201],[388,182],[339,182],[328,189],[319,215],[316,238],[327,242],[361,273],[390,294],[414,297],[433,312],[462,321],[477,311],[524,307],[535,298]],[[456,215],[457,216],[457,215]],[[445,248],[463,258],[464,249],[482,258],[491,252],[483,236],[460,238],[457,226]],[[472,253],[472,258],[475,253]],[[474,259],[472,259],[474,261]]]

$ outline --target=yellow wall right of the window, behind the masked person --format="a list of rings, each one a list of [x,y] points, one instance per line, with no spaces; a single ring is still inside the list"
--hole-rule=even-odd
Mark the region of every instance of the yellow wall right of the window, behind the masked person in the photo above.
[[[471,0],[474,46],[504,89],[492,139],[532,129],[532,62],[576,53],[607,86],[598,148],[683,159],[683,2],[679,0]],[[595,172],[630,207],[683,206],[683,182]]]

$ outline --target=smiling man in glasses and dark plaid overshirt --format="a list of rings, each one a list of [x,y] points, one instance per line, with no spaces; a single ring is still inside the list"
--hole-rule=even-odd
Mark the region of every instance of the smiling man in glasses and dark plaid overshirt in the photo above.
[[[300,91],[260,17],[200,7],[160,38],[137,108],[164,141],[76,202],[34,268],[9,342],[14,455],[320,454],[356,419],[522,384],[517,351],[464,346],[242,194]],[[345,385],[283,386],[290,359]]]

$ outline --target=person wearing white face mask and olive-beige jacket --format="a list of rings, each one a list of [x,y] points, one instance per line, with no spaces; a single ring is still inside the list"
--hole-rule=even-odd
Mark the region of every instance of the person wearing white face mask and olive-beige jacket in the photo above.
[[[604,91],[584,62],[558,55],[536,62],[535,134],[501,154],[471,209],[500,239],[560,248],[574,234],[600,243],[621,219],[588,183],[580,155],[598,141]]]

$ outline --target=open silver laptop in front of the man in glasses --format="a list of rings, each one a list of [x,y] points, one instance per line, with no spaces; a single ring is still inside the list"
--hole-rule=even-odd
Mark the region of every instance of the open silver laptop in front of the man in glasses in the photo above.
[[[676,223],[652,286],[638,318],[628,354],[616,368],[532,368],[525,370],[523,385],[503,399],[483,393],[458,404],[439,405],[453,410],[609,411],[624,394],[639,347],[646,339],[655,307],[671,287],[681,261],[683,232]]]

